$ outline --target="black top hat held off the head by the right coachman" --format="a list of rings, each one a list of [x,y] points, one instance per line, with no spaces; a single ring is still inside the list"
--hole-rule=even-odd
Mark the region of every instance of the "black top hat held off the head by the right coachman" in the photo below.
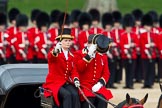
[[[111,42],[112,40],[103,34],[96,34],[92,39],[92,43],[97,44],[97,51],[100,53],[106,53]]]

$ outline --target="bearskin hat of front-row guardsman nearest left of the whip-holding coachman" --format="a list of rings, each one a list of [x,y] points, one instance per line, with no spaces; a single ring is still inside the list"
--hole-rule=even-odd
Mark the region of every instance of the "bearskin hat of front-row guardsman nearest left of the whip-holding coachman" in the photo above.
[[[38,29],[41,29],[42,26],[49,27],[50,25],[50,18],[46,12],[40,12],[36,18],[36,23]]]

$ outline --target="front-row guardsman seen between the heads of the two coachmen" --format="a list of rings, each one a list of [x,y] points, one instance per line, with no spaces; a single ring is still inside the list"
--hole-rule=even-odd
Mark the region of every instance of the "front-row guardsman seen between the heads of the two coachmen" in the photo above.
[[[87,46],[88,37],[91,34],[89,28],[91,27],[92,17],[89,13],[83,12],[79,15],[78,21],[81,29],[78,35],[78,46],[81,50]]]

